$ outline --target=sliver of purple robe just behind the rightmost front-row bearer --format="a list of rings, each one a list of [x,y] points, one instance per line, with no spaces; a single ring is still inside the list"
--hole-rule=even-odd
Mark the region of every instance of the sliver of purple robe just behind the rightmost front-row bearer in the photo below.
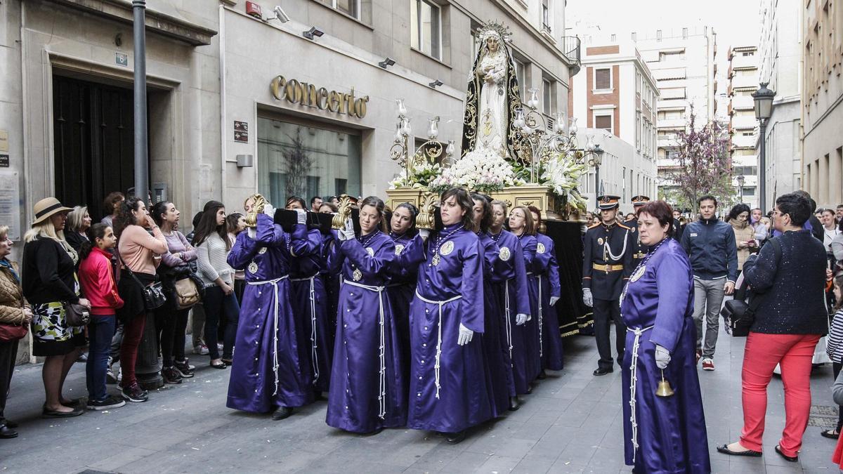
[[[486,356],[486,373],[489,380],[489,400],[494,410],[493,416],[498,417],[509,409],[509,397],[514,395],[513,367],[509,361],[509,350],[502,342],[506,342],[507,335],[502,332],[503,310],[498,304],[491,283],[491,274],[495,269],[495,261],[500,256],[500,248],[488,234],[477,234],[483,249],[483,299],[484,310],[482,335],[483,353]],[[512,388],[512,391],[510,390]]]

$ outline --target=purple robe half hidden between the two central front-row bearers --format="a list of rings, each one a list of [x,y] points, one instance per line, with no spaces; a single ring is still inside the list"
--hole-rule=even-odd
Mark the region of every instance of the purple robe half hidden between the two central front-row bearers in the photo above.
[[[389,266],[389,284],[386,287],[389,301],[392,302],[392,315],[395,320],[395,330],[398,332],[399,349],[401,351],[401,369],[405,382],[409,383],[410,374],[410,303],[416,294],[416,279],[418,268],[424,261],[424,240],[416,234],[408,237],[406,234],[397,237],[389,236],[395,241],[395,260]]]

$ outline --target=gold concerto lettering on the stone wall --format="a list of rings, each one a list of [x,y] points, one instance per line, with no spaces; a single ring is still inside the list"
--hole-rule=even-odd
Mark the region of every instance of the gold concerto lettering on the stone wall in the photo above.
[[[329,110],[336,114],[366,116],[366,105],[368,95],[357,99],[354,97],[354,88],[348,94],[328,90],[324,87],[317,88],[314,84],[299,82],[296,79],[287,80],[283,76],[272,78],[270,83],[272,97],[277,100],[287,100],[290,104],[299,104],[307,107],[315,107],[319,110]]]

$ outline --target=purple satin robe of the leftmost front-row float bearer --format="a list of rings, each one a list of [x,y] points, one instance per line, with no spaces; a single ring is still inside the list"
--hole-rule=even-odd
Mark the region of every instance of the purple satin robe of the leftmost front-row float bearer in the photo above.
[[[246,286],[226,405],[264,413],[275,407],[301,407],[313,399],[310,374],[299,369],[296,327],[288,298],[289,278],[268,283],[287,276],[287,241],[292,249],[298,249],[304,245],[306,234],[303,226],[296,226],[291,240],[291,235],[265,214],[257,216],[256,233],[254,240],[248,232],[238,234],[228,253],[228,265],[245,269]],[[273,370],[276,359],[277,386]]]

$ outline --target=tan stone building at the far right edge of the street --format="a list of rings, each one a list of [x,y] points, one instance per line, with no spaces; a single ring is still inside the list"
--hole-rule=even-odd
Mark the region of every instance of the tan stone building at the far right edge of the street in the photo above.
[[[802,187],[820,207],[843,202],[843,5],[803,1]]]

